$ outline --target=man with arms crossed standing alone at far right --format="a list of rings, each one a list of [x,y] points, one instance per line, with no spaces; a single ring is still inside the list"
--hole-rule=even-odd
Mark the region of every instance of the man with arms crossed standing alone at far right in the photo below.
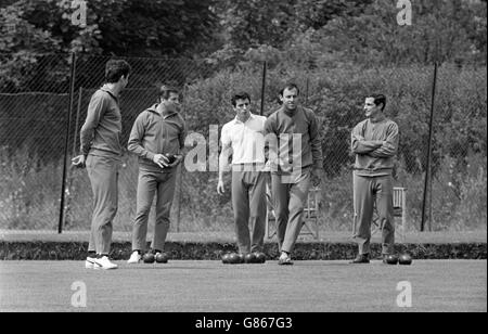
[[[352,264],[369,264],[371,221],[374,202],[382,228],[382,254],[394,253],[395,223],[393,204],[394,158],[398,150],[398,126],[385,117],[386,98],[382,94],[365,99],[365,120],[351,133],[351,151],[356,155],[354,171],[354,237],[359,254]]]

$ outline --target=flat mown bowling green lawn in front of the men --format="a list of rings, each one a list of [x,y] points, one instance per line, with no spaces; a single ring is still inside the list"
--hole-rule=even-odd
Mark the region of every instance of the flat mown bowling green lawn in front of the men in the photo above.
[[[0,311],[487,311],[486,260],[117,264],[105,271],[84,261],[0,261]],[[397,305],[402,281],[410,308]],[[86,286],[85,308],[72,306],[75,282]]]

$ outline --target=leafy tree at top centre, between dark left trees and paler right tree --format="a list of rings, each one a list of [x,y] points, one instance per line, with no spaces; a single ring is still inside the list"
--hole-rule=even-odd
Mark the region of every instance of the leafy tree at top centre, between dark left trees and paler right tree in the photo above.
[[[217,62],[237,64],[257,54],[271,57],[287,51],[301,35],[341,15],[357,15],[371,2],[359,0],[235,0],[215,7],[222,26],[222,47],[213,54]],[[258,56],[259,57],[259,56]]]

